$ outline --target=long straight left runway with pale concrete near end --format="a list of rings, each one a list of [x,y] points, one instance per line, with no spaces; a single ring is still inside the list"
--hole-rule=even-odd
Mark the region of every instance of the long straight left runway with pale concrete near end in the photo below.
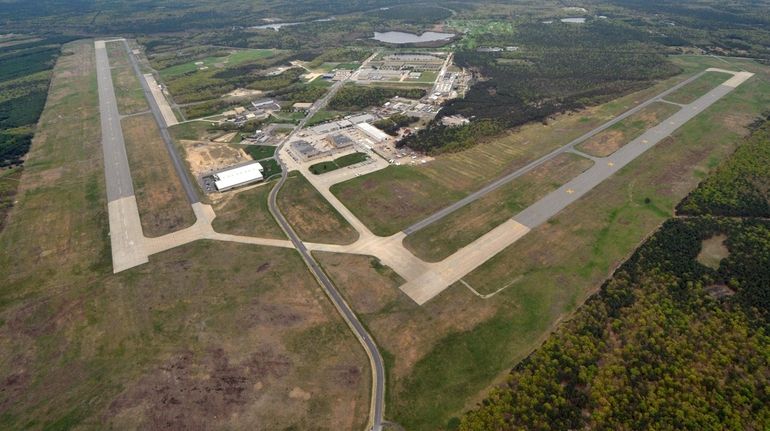
[[[95,41],[94,49],[104,176],[107,184],[112,268],[114,272],[120,272],[147,263],[148,258],[142,247],[142,222],[139,220],[139,210],[134,196],[131,169],[128,166],[105,42]]]

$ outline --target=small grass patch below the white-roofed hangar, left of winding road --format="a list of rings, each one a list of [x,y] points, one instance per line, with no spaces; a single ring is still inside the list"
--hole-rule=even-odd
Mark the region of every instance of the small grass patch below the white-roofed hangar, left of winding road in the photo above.
[[[228,193],[224,200],[214,206],[217,214],[212,223],[214,230],[234,235],[285,239],[286,236],[267,207],[267,195],[273,185],[267,183]]]

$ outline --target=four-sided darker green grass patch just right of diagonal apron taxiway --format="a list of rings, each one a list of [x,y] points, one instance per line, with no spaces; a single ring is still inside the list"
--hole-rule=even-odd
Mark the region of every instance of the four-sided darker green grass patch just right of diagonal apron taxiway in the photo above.
[[[465,195],[409,166],[388,166],[335,184],[331,192],[380,236],[393,235]]]

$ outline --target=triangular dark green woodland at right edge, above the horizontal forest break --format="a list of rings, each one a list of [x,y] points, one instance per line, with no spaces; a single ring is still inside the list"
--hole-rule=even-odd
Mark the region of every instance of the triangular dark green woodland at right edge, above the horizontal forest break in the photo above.
[[[770,217],[770,123],[764,123],[735,154],[678,206],[682,215]]]

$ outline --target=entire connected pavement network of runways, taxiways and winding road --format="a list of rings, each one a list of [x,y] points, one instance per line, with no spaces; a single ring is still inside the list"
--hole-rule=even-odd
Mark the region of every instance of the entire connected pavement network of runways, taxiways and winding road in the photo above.
[[[373,430],[380,430],[383,424],[384,411],[384,392],[385,392],[385,373],[382,357],[377,349],[372,337],[367,333],[363,325],[356,317],[354,311],[345,302],[342,295],[337,291],[334,284],[329,280],[320,266],[312,257],[312,251],[331,251],[339,253],[353,253],[371,255],[377,257],[384,264],[390,266],[406,283],[401,289],[416,303],[424,304],[444,289],[459,281],[469,272],[504,250],[525,236],[531,229],[546,222],[548,219],[559,213],[568,205],[574,203],[581,196],[588,193],[598,184],[612,176],[615,172],[631,163],[641,154],[651,149],[653,146],[669,136],[675,130],[687,123],[689,120],[703,112],[713,103],[730,93],[733,89],[741,85],[752,74],[748,72],[731,72],[721,69],[708,69],[713,71],[725,72],[733,75],[720,86],[709,91],[693,103],[680,105],[681,109],[671,115],[658,125],[650,128],[638,138],[627,143],[615,153],[608,157],[590,157],[594,165],[580,175],[576,176],[568,183],[559,187],[557,190],[549,193],[538,200],[513,218],[507,220],[501,225],[495,227],[487,234],[477,238],[471,244],[461,248],[453,255],[447,257],[441,262],[428,263],[414,256],[403,246],[403,240],[407,234],[414,233],[425,226],[434,223],[451,212],[468,205],[476,199],[487,193],[501,187],[513,179],[531,171],[547,160],[563,153],[577,152],[575,146],[589,139],[597,133],[611,127],[619,121],[638,112],[644,107],[659,101],[665,102],[665,97],[697,79],[704,72],[691,77],[690,79],[666,90],[665,92],[651,98],[650,100],[638,105],[637,107],[614,118],[604,125],[592,130],[584,136],[560,147],[552,153],[549,153],[540,159],[537,159],[527,166],[508,174],[477,192],[470,194],[461,201],[429,216],[425,220],[418,222],[402,232],[389,237],[379,237],[374,235],[347,207],[345,207],[330,191],[329,188],[338,182],[352,178],[352,176],[362,173],[369,173],[374,170],[387,167],[386,163],[363,164],[358,169],[340,170],[327,177],[309,174],[305,168],[298,166],[288,155],[285,143],[301,130],[306,122],[333,97],[336,91],[344,85],[344,81],[335,83],[331,90],[322,99],[317,101],[309,110],[307,116],[290,133],[279,146],[279,163],[284,167],[281,180],[270,193],[269,208],[273,216],[278,221],[288,240],[263,239],[239,235],[228,235],[215,232],[211,222],[216,214],[209,205],[200,202],[198,193],[195,190],[189,176],[176,153],[173,142],[168,134],[166,118],[155,100],[155,95],[151,91],[147,81],[143,79],[136,59],[128,49],[128,44],[123,41],[129,53],[132,66],[142,83],[145,96],[150,104],[150,108],[158,123],[161,136],[167,145],[169,155],[174,162],[176,173],[178,174],[185,193],[192,209],[196,215],[196,223],[186,229],[164,235],[159,238],[146,238],[142,232],[139,211],[134,197],[134,190],[131,179],[130,167],[126,156],[123,133],[120,127],[120,115],[115,100],[115,93],[112,84],[112,76],[107,58],[105,41],[96,41],[96,67],[97,82],[99,91],[99,105],[101,112],[102,127],[102,145],[104,152],[105,178],[107,182],[107,198],[110,224],[110,241],[112,247],[113,270],[114,272],[123,271],[131,267],[141,265],[148,261],[152,254],[168,250],[192,241],[200,239],[211,239],[220,241],[242,242],[247,244],[256,244],[273,247],[295,248],[325,293],[332,300],[340,315],[350,326],[351,330],[358,337],[362,346],[366,350],[372,372],[372,398],[370,409],[369,427]],[[368,61],[368,60],[367,60]],[[365,62],[366,63],[366,62]],[[579,153],[579,152],[578,152]],[[582,155],[582,153],[579,153]],[[585,155],[584,155],[585,156]],[[276,204],[278,190],[286,180],[286,174],[289,170],[301,170],[307,179],[318,189],[339,212],[340,214],[359,232],[359,239],[350,245],[329,245],[304,243],[296,235],[292,227],[283,217],[280,208]]]

